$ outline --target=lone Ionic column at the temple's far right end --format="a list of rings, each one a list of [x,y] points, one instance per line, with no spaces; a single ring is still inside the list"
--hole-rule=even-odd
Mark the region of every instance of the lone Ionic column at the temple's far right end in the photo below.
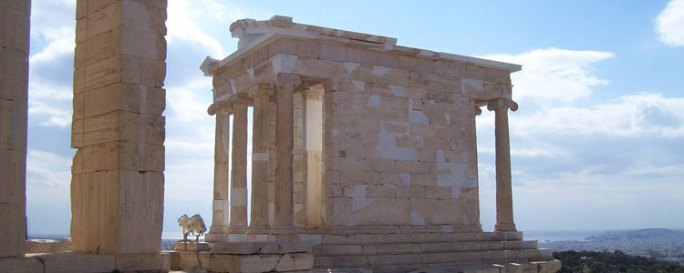
[[[510,99],[492,99],[487,109],[494,111],[496,142],[496,231],[515,231],[513,223],[513,186],[511,182],[511,145],[508,136],[508,109],[518,104]]]

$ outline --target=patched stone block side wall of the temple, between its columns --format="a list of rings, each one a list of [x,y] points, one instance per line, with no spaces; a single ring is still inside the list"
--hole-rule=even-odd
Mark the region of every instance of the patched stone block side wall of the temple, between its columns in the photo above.
[[[333,84],[325,98],[327,223],[479,226],[475,106],[450,89]]]

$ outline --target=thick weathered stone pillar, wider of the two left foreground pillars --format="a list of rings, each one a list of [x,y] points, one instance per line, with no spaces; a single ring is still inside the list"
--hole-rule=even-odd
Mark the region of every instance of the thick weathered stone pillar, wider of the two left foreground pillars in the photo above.
[[[71,180],[74,252],[160,252],[166,3],[77,1],[71,136],[72,147],[78,148]],[[131,256],[117,255],[117,268],[160,267],[148,261],[126,268],[125,257]]]

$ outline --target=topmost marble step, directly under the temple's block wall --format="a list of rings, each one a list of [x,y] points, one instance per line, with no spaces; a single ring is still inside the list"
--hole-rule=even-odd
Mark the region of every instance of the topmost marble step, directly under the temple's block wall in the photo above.
[[[463,233],[398,233],[398,234],[326,234],[323,245],[424,243],[463,241],[520,241],[523,232],[463,232]]]

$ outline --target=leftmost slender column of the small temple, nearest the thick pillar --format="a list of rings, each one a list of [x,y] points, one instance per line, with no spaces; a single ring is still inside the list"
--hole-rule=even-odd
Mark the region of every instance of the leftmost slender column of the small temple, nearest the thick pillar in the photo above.
[[[228,229],[228,150],[231,143],[230,116],[233,107],[225,102],[209,107],[209,115],[216,115],[216,132],[213,150],[213,207],[212,227],[207,241],[225,241],[223,234]]]

